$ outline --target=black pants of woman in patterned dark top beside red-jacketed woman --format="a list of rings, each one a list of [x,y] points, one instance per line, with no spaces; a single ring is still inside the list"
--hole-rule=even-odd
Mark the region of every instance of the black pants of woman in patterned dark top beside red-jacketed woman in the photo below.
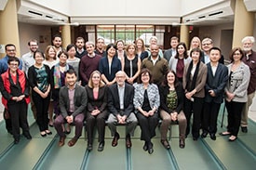
[[[47,98],[42,98],[37,93],[33,92],[32,94],[34,100],[34,106],[36,108],[36,123],[39,126],[40,132],[48,129],[48,106],[50,96]]]

